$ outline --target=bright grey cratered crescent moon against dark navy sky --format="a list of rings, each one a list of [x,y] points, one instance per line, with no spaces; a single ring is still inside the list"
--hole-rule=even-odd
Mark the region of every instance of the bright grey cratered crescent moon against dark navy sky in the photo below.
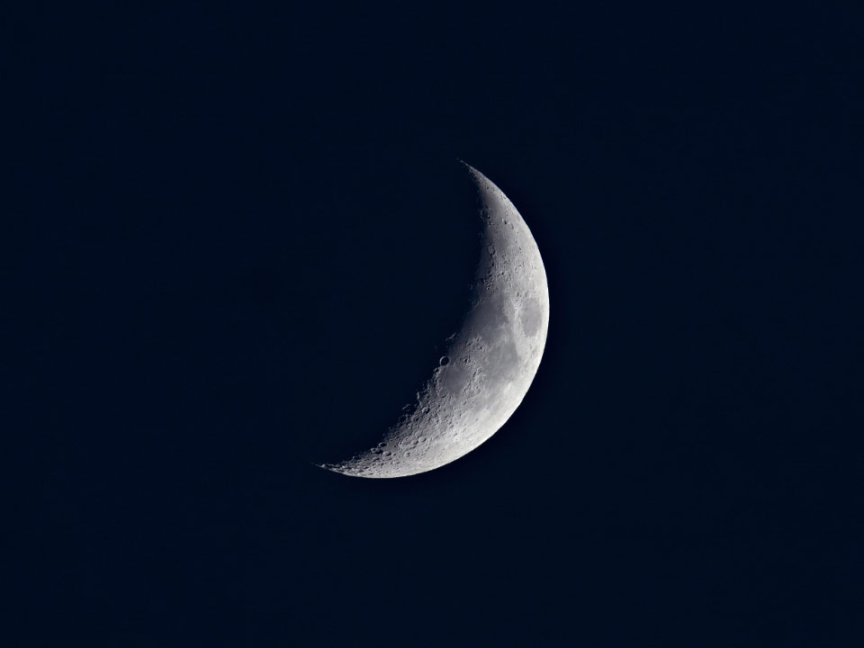
[[[543,259],[508,197],[480,171],[465,166],[480,195],[483,227],[462,328],[447,338],[446,355],[382,442],[322,468],[380,479],[449,464],[495,434],[534,381],[549,325]]]

